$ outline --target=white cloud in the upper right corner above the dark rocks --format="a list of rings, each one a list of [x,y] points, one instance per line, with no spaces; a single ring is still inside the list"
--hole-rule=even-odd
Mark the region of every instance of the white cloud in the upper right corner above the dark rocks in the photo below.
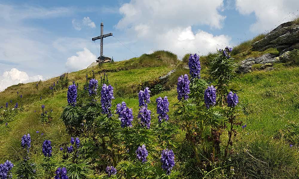
[[[250,26],[251,32],[269,31],[279,24],[291,21],[298,15],[298,7],[298,0],[236,0],[239,13],[254,13],[257,18]]]

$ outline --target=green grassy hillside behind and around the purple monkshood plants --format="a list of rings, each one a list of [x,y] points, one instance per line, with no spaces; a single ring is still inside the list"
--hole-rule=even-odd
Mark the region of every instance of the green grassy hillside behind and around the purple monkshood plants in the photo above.
[[[265,52],[252,52],[248,44],[262,38],[259,35],[253,40],[243,42],[234,48],[232,54],[236,61],[249,56],[260,56],[264,53],[277,53],[276,49]],[[177,102],[176,81],[179,75],[189,72],[184,69],[187,65],[187,57],[178,61],[177,56],[167,51],[156,51],[152,54],[144,54],[138,58],[115,63],[106,63],[93,68],[71,72],[68,74],[70,81],[79,84],[79,90],[83,90],[86,82],[86,74],[91,78],[94,71],[95,78],[100,81],[101,76],[108,75],[110,84],[114,87],[115,100],[112,101],[112,109],[116,104],[125,101],[132,107],[133,115],[138,115],[138,91],[149,86],[156,88],[152,93],[152,102],[149,109],[156,111],[155,99],[159,96],[168,96],[170,102],[170,123],[175,123],[173,112],[176,110],[173,104]],[[202,78],[208,78],[207,64],[215,57],[215,54],[202,56]],[[295,176],[298,164],[299,144],[299,67],[285,67],[275,64],[273,71],[256,71],[250,74],[240,75],[235,83],[242,88],[239,92],[239,101],[244,115],[242,124],[246,127],[237,127],[237,138],[229,159],[231,163],[231,176],[227,178],[288,178]],[[164,86],[159,86],[158,78],[170,70],[176,69]],[[49,87],[59,80],[59,77],[36,83],[18,84],[8,87],[0,92],[0,104],[13,108],[19,103],[19,112],[10,117],[0,118],[0,163],[7,159],[17,162],[22,158],[20,139],[24,134],[30,133],[32,137],[31,158],[36,163],[41,163],[43,155],[40,152],[42,142],[51,140],[54,158],[59,159],[62,152],[59,151],[61,143],[69,141],[70,136],[65,131],[65,126],[60,119],[63,108],[68,104],[66,98],[67,89],[51,92]],[[70,82],[71,83],[71,82]],[[167,90],[166,90],[167,89]],[[17,95],[19,92],[19,95]],[[22,98],[20,95],[22,94]],[[42,99],[40,99],[42,96]],[[10,100],[13,101],[10,104]],[[42,111],[41,105],[50,111],[53,109],[50,123],[43,124],[39,121]],[[36,111],[36,112],[34,112]],[[6,126],[5,123],[8,123]],[[157,123],[156,116],[152,123]],[[36,133],[39,131],[39,133]],[[43,133],[44,135],[41,135]],[[227,135],[222,135],[228,138]],[[186,171],[192,155],[190,146],[185,146],[185,132],[181,129],[174,137],[178,144],[176,153],[176,168],[180,171],[179,178],[195,178],[199,168]],[[290,144],[293,145],[290,148]],[[221,144],[224,145],[224,144]],[[190,152],[191,151],[191,152]],[[180,155],[179,155],[179,152]],[[197,171],[197,172],[196,172]],[[213,173],[219,174],[219,178],[225,178],[221,168]],[[225,172],[227,173],[227,171]],[[208,175],[205,173],[208,178]],[[41,174],[43,176],[43,174]],[[211,175],[212,176],[212,175]],[[213,175],[215,177],[216,175]],[[45,176],[43,176],[45,177]],[[215,177],[216,178],[216,177]]]

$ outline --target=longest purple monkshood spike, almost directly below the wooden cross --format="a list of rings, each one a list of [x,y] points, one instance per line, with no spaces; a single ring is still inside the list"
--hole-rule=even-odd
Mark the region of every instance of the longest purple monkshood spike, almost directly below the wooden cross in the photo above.
[[[112,107],[112,99],[115,99],[113,96],[113,87],[109,84],[103,84],[101,90],[101,106],[102,106],[102,114],[107,114],[108,117],[111,117],[111,107]]]

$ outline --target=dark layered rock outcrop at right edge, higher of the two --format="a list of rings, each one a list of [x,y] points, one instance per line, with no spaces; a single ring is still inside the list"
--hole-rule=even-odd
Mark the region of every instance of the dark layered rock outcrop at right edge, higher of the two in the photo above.
[[[269,32],[263,39],[253,43],[252,50],[264,51],[277,48],[282,53],[299,47],[299,25],[286,22]]]

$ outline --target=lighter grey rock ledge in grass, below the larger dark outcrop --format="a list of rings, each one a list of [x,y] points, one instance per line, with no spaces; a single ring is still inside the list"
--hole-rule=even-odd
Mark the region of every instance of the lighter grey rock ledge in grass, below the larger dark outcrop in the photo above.
[[[266,53],[265,55],[262,55],[257,58],[247,58],[246,60],[241,61],[238,72],[239,73],[251,72],[251,68],[253,64],[265,64],[264,66],[263,65],[261,66],[261,68],[263,67],[264,69],[268,67],[272,67],[274,62],[279,61],[279,59],[275,57],[276,55],[274,54]],[[272,64],[272,66],[270,64]],[[270,70],[270,68],[268,68],[268,70]]]

